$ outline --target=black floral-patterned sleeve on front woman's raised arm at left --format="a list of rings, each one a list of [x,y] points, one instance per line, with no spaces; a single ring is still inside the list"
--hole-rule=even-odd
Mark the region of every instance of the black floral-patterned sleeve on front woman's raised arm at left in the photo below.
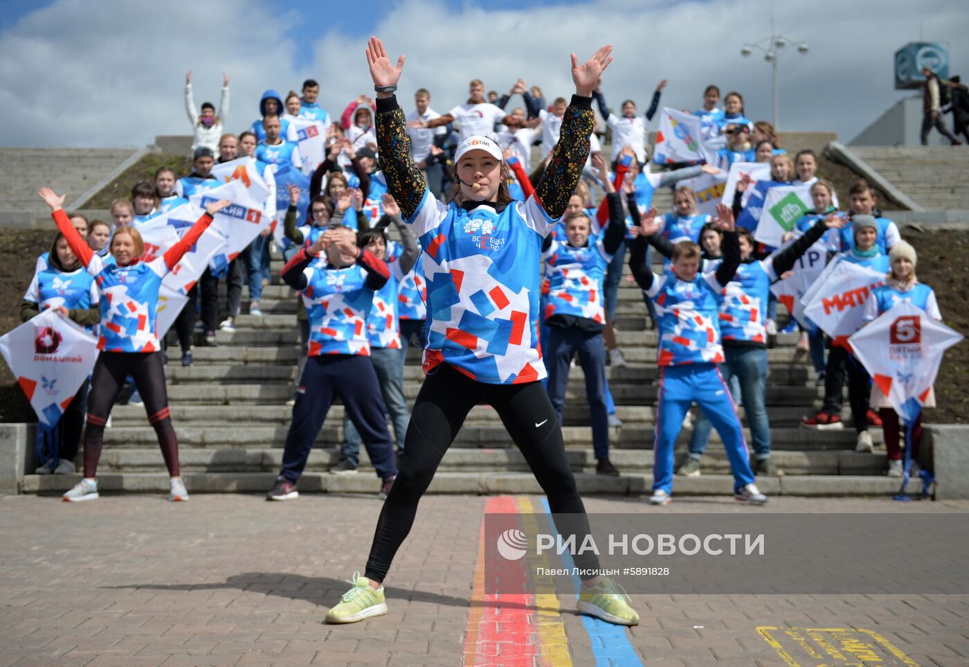
[[[387,178],[387,189],[400,206],[404,220],[410,220],[421,206],[427,185],[411,159],[407,119],[396,97],[377,100],[376,126],[380,168]]]

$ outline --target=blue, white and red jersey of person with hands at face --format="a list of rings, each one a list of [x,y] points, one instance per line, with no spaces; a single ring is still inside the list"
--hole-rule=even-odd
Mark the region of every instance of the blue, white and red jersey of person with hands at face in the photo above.
[[[366,270],[357,264],[334,269],[314,262],[303,275],[309,283],[302,291],[309,318],[307,356],[369,356],[366,319],[374,292],[366,287]]]

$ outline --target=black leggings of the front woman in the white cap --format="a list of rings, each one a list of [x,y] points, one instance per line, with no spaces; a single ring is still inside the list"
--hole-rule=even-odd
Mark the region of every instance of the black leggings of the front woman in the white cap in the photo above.
[[[547,495],[559,532],[567,537],[577,535],[577,544],[582,544],[589,531],[585,507],[565,457],[562,429],[542,384],[489,385],[442,364],[424,380],[414,403],[400,471],[380,512],[367,559],[367,578],[383,582],[387,577],[394,554],[414,524],[423,492],[468,412],[480,404],[491,405],[508,429]],[[599,560],[594,555],[580,555],[576,565],[597,569]]]

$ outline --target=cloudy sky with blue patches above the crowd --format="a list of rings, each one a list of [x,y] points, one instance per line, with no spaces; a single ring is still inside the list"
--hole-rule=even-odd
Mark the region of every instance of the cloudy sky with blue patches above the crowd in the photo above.
[[[920,36],[948,42],[951,74],[969,75],[964,0],[773,5],[776,32],[811,48],[780,60],[782,129],[853,139],[903,95],[892,53]],[[230,74],[234,131],[258,116],[264,89],[285,95],[307,77],[336,114],[372,90],[370,34],[407,54],[402,90],[429,88],[438,111],[462,102],[472,78],[504,92],[520,76],[568,97],[569,52],[587,58],[609,43],[610,105],[630,97],[644,108],[665,78],[664,105],[697,108],[716,83],[743,93],[749,117],[770,119],[770,67],[739,53],[770,34],[770,19],[771,0],[0,0],[0,145],[141,146],[189,134],[190,69],[197,104],[217,103],[221,72]]]

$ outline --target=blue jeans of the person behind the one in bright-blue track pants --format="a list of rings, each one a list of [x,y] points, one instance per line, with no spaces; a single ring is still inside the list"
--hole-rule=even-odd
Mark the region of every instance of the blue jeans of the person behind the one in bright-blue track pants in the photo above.
[[[740,382],[740,397],[750,426],[750,438],[754,446],[754,457],[766,459],[770,456],[770,424],[767,421],[767,408],[764,404],[767,382],[767,350],[763,347],[724,346],[727,360],[723,369],[724,380],[729,384],[735,377]],[[693,427],[690,439],[690,458],[700,459],[710,439],[712,425],[701,410]]]

